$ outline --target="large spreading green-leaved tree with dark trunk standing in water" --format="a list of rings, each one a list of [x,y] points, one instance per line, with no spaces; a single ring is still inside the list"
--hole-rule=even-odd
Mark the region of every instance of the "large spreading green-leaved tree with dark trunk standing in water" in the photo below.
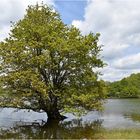
[[[0,106],[43,110],[49,119],[62,119],[60,111],[100,109],[98,38],[65,25],[47,5],[29,6],[0,43],[1,81],[10,91]]]

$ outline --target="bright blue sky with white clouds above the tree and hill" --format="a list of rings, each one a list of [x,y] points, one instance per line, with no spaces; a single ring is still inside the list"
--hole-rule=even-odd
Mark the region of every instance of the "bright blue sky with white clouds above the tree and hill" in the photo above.
[[[28,5],[53,5],[64,23],[83,35],[101,34],[101,57],[107,66],[102,79],[116,81],[140,72],[140,0],[3,0],[0,2],[0,41],[8,36],[10,21],[23,18]]]

